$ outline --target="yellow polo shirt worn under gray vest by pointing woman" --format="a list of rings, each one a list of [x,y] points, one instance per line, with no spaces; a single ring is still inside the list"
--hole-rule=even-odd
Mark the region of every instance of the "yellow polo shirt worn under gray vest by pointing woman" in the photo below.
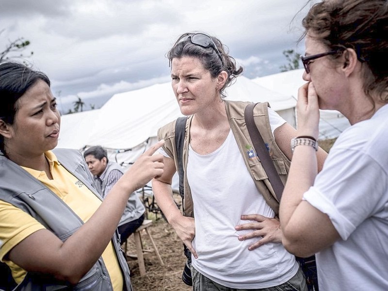
[[[53,177],[50,180],[44,171],[36,171],[23,167],[33,177],[45,184],[52,192],[58,195],[73,210],[83,222],[94,214],[101,205],[95,194],[93,194],[80,180],[69,173],[57,160],[55,155],[48,151],[45,153],[50,164],[50,171]],[[7,263],[12,270],[16,283],[20,283],[26,271],[4,256],[19,242],[31,235],[33,232],[44,229],[31,215],[18,209],[12,204],[0,200],[0,260]],[[123,290],[123,277],[119,262],[114,251],[113,243],[110,242],[102,253],[109,276],[111,277],[113,290]]]

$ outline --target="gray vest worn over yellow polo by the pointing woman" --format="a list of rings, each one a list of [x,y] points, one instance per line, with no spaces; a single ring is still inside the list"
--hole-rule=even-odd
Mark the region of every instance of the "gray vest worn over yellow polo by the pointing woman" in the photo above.
[[[53,152],[67,171],[101,199],[93,176],[88,171],[79,151],[55,149]],[[0,190],[1,200],[29,213],[63,242],[83,225],[82,220],[56,194],[16,163],[3,156],[0,156]],[[129,268],[120,248],[117,231],[113,235],[112,242],[123,275],[124,290],[131,291]],[[15,291],[40,290],[113,291],[113,287],[105,263],[100,257],[75,286],[28,272],[24,280],[15,288]]]

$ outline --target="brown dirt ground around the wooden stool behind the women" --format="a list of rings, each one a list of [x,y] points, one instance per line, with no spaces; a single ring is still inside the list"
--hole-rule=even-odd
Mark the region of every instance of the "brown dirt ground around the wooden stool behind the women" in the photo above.
[[[335,140],[320,141],[320,146],[328,151]],[[174,195],[179,203],[180,197]],[[183,244],[179,240],[174,229],[162,218],[162,216],[149,214],[149,219],[154,221],[149,227],[152,238],[161,254],[164,266],[161,266],[154,253],[145,257],[146,275],[140,276],[137,260],[129,260],[131,282],[134,291],[189,291],[191,287],[182,282],[181,275],[186,262],[183,255]],[[142,233],[142,240],[147,248],[152,248],[146,233]],[[127,254],[135,254],[133,236],[128,240]]]

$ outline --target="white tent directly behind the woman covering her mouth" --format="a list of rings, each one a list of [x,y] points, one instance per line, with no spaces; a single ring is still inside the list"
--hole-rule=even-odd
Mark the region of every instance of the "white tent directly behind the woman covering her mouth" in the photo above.
[[[298,97],[298,89],[306,81],[302,79],[304,69],[292,70],[274,75],[268,75],[252,79],[252,81],[270,90],[282,94]],[[319,124],[319,139],[336,138],[346,128],[350,126],[348,119],[335,110],[321,110]]]

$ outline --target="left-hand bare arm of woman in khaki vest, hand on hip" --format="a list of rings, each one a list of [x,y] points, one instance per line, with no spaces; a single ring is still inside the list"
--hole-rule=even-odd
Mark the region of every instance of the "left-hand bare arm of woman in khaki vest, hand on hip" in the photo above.
[[[152,190],[168,222],[175,229],[178,237],[188,247],[194,257],[197,258],[197,254],[192,245],[195,236],[194,218],[183,216],[173,199],[171,182],[175,172],[174,160],[164,157],[163,175],[160,178],[152,180]]]

